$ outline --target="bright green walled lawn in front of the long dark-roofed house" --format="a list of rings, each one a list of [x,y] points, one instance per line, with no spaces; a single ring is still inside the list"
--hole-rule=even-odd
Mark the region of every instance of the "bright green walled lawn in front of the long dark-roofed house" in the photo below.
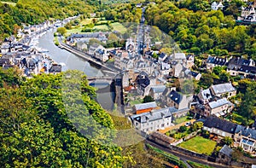
[[[198,154],[212,154],[217,142],[203,138],[201,136],[195,136],[189,139],[187,142],[182,142],[178,144],[178,147],[186,148],[194,151]]]

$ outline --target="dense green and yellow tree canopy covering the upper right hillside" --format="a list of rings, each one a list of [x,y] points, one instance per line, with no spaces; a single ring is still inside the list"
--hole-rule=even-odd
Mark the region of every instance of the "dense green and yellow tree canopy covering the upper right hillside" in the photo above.
[[[211,10],[208,1],[158,1],[146,9],[146,20],[151,26],[172,36],[181,49],[215,55],[230,52],[253,56],[255,28],[253,25],[236,25],[241,3],[228,3],[228,9]],[[235,7],[235,8],[234,8]],[[235,14],[235,15],[234,15]],[[236,15],[237,14],[237,15]],[[234,15],[234,16],[233,16]],[[253,56],[254,57],[254,56]]]

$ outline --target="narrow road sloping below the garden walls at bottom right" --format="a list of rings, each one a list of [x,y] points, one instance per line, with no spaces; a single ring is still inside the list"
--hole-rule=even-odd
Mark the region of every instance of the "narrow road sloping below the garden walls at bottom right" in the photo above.
[[[209,161],[204,160],[204,159],[198,159],[198,158],[195,158],[195,157],[192,157],[192,156],[189,156],[189,155],[182,154],[182,153],[179,153],[177,151],[171,150],[170,148],[163,148],[159,144],[156,144],[154,142],[150,142],[148,140],[145,140],[145,142],[152,145],[155,148],[159,148],[160,150],[165,151],[166,153],[174,154],[175,156],[177,156],[178,158],[180,158],[182,160],[190,160],[190,161],[193,161],[193,162],[196,162],[196,163],[200,163],[200,164],[203,164],[203,165],[210,165],[212,167],[217,167],[217,168],[231,168],[232,167],[230,165],[221,165],[221,164],[218,164],[218,163],[209,162]]]

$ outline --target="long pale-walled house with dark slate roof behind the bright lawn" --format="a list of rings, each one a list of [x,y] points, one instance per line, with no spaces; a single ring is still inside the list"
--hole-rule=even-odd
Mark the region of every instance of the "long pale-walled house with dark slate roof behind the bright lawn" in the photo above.
[[[204,122],[203,130],[207,130],[212,134],[218,135],[219,137],[229,136],[234,138],[236,126],[236,124],[225,119],[210,116],[207,117],[206,121]]]

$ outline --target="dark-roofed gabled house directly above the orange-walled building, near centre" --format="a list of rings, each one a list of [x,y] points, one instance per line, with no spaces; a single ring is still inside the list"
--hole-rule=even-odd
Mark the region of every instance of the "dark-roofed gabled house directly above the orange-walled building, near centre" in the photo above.
[[[141,72],[136,79],[137,92],[141,96],[147,96],[150,90],[150,78],[147,72]]]

